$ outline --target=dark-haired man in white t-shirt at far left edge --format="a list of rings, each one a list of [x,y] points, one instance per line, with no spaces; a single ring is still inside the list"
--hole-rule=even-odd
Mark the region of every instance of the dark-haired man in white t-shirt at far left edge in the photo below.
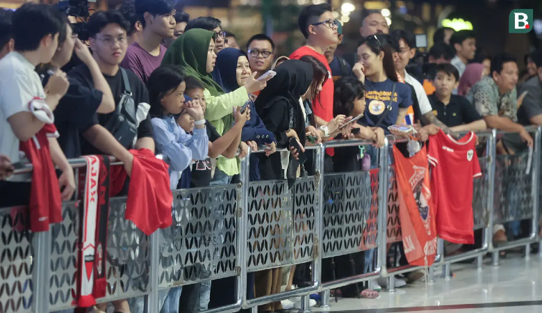
[[[42,120],[54,120],[51,112],[69,86],[59,71],[49,80],[46,93],[35,72],[36,65],[49,63],[55,54],[63,22],[51,6],[25,3],[13,14],[12,23],[15,51],[0,60],[0,154],[12,163],[26,163],[19,157],[19,143],[33,138],[44,127]],[[17,183],[28,181],[28,176],[8,180],[1,182],[0,207],[24,200],[29,193],[28,186],[21,185],[28,183]]]

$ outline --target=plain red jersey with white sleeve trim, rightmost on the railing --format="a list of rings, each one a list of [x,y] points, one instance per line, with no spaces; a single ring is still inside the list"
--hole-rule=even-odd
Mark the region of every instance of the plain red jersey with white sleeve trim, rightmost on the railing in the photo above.
[[[474,243],[473,178],[482,176],[476,135],[459,141],[439,131],[429,137],[431,192],[436,207],[436,232],[452,243]]]

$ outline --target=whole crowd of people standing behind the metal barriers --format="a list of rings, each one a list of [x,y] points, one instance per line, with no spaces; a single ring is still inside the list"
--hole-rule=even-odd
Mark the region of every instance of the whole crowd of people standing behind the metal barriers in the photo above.
[[[88,42],[69,21],[44,4],[0,11],[0,207],[40,209],[31,218],[37,231],[58,222],[54,208],[74,198],[79,182],[67,160],[85,155],[122,161],[133,184],[142,173],[138,151],[161,154],[169,166],[168,190],[175,190],[235,182],[248,147],[263,150],[250,154],[251,181],[295,179],[311,171],[300,161],[301,154],[311,156],[304,147],[335,138],[373,145],[328,149],[326,173],[377,167],[377,148],[390,134],[416,138],[405,152],[412,156],[441,131],[454,138],[462,131],[513,131],[498,145],[500,153],[513,154],[533,145],[525,126],[542,125],[542,51],[525,58],[528,72],[520,81],[510,54],[475,60],[473,31],[439,29],[426,64],[412,67],[415,35],[391,31],[379,11],[365,13],[356,51],[336,55],[342,26],[328,4],[302,8],[298,25],[306,45],[290,56],[276,56],[273,40],[261,33],[240,49],[219,19],[190,19],[176,12],[174,0],[125,1],[119,10],[93,13]],[[348,123],[352,118],[359,119]],[[400,131],[404,125],[416,134]],[[290,154],[277,152],[284,148]],[[26,163],[33,165],[31,175],[13,175]],[[495,225],[493,240],[519,232],[516,223]],[[356,271],[368,271],[372,260],[371,250],[360,252]],[[350,275],[349,266],[334,267],[334,275],[322,271],[329,273],[322,280]],[[249,273],[247,297],[303,287],[304,276],[297,275],[303,268],[310,271],[293,267],[286,279],[281,268]],[[396,279],[395,287],[420,279],[416,274]],[[160,291],[161,312],[231,304],[232,279]],[[374,298],[385,284],[375,280],[369,289],[354,284],[336,292]],[[299,305],[286,300],[259,310]],[[113,306],[139,313],[144,300]]]

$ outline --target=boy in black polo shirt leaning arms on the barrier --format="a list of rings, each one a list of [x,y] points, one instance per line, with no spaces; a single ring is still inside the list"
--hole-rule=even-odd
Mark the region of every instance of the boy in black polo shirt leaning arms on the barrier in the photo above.
[[[486,122],[475,106],[459,95],[452,95],[459,85],[459,71],[454,65],[436,67],[435,93],[429,96],[433,113],[452,131],[479,131],[486,129]]]

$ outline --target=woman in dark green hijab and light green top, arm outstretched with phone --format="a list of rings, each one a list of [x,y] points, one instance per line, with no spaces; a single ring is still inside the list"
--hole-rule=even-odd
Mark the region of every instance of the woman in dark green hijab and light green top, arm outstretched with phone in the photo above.
[[[186,76],[194,77],[203,83],[206,101],[205,118],[216,128],[218,134],[222,135],[233,124],[233,107],[243,106],[249,99],[249,93],[265,88],[266,81],[256,81],[253,74],[247,79],[245,86],[231,93],[224,93],[224,90],[213,81],[211,75],[216,61],[215,37],[214,31],[204,29],[186,31],[167,49],[162,64],[180,65]],[[217,182],[217,178],[220,178],[219,184],[229,184],[231,177],[237,174],[239,174],[239,168],[236,159],[224,157],[217,159],[217,170],[215,170],[213,181]]]

